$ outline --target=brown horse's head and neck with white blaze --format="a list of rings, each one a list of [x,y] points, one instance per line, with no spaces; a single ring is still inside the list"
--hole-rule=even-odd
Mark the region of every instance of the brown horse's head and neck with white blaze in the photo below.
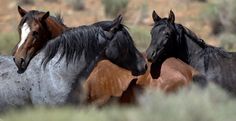
[[[18,25],[18,32],[21,40],[13,49],[13,59],[18,67],[18,73],[24,73],[30,60],[36,56],[47,42],[66,29],[62,17],[50,16],[49,11],[41,12],[36,10],[26,11],[18,6],[21,21]]]

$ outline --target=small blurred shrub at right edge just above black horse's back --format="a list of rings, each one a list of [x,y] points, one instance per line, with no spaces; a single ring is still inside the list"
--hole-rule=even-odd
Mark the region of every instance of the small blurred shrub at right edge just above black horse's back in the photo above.
[[[236,51],[236,35],[223,33],[219,36],[220,46],[228,51]]]

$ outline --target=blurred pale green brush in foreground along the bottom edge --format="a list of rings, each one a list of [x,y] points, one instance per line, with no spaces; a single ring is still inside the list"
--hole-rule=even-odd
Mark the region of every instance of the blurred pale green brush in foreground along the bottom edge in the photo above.
[[[196,86],[165,95],[149,90],[139,106],[12,110],[3,121],[234,121],[236,100],[220,88]]]

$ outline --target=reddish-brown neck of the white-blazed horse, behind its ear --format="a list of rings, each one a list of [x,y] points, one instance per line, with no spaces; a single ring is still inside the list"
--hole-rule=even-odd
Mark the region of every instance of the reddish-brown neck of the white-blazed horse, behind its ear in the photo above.
[[[53,19],[47,19],[47,26],[49,29],[49,32],[51,32],[51,37],[55,38],[57,36],[59,36],[60,34],[62,34],[62,32],[67,29],[68,27],[66,27],[65,25],[56,22]]]

